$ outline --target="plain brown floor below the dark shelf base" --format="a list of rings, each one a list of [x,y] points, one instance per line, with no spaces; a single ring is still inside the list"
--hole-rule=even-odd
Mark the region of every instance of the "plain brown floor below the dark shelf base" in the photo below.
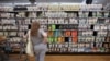
[[[18,59],[19,56],[10,56],[11,61]],[[24,56],[20,61],[25,61]],[[29,57],[30,61],[34,61],[34,57]],[[110,56],[46,56],[45,61],[110,61]]]

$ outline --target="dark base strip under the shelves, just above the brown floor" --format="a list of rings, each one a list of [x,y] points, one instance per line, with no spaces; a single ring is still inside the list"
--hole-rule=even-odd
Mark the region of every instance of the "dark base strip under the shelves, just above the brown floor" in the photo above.
[[[19,54],[20,52],[10,52],[9,54]],[[25,52],[23,52],[25,54]],[[46,52],[47,56],[110,56],[110,52]]]

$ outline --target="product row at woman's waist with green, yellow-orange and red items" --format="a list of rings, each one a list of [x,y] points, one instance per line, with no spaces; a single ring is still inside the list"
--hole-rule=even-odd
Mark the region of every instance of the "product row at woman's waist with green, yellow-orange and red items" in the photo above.
[[[110,37],[99,37],[99,36],[91,36],[91,37],[84,37],[84,36],[75,36],[75,37],[48,37],[50,44],[64,44],[64,42],[110,42]]]

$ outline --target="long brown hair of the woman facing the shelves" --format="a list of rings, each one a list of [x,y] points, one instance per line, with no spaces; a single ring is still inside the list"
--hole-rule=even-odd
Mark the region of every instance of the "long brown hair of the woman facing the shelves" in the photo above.
[[[40,28],[40,23],[38,22],[33,22],[31,24],[31,36],[37,36],[38,28]]]

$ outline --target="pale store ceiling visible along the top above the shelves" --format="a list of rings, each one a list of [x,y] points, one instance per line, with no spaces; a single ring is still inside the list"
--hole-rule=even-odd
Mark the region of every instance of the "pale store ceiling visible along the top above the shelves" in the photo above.
[[[74,3],[82,3],[85,0],[36,0],[36,2],[74,2]],[[0,3],[25,3],[29,0],[0,0]],[[110,0],[94,0],[92,3],[109,3]]]

